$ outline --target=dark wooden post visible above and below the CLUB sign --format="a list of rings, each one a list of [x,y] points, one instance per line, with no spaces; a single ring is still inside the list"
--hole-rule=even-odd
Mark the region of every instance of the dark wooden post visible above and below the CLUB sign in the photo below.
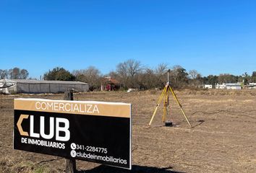
[[[73,91],[64,92],[64,100],[74,100]],[[75,159],[66,159],[66,173],[77,172],[77,166]]]

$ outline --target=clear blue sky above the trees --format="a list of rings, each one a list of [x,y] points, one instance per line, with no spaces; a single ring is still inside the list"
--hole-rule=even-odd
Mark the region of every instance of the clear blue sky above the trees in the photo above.
[[[0,69],[103,74],[128,59],[203,76],[256,71],[256,1],[0,0]]]

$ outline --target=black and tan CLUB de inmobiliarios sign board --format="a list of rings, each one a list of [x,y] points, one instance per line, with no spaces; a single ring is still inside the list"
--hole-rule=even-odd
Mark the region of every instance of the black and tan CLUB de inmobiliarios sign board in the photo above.
[[[14,99],[14,149],[131,169],[131,105]]]

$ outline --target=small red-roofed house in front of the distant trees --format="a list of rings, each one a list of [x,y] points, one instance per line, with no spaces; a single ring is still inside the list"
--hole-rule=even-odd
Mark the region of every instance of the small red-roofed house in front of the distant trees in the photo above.
[[[101,91],[115,91],[120,88],[120,82],[110,76],[101,81]]]

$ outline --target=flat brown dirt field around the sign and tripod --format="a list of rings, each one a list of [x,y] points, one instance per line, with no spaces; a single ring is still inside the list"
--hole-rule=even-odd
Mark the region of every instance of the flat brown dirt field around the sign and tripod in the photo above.
[[[76,100],[132,103],[132,172],[256,172],[256,91],[176,91],[193,128],[171,98],[171,121],[161,123],[162,107],[148,126],[161,91],[88,92]],[[63,94],[0,95],[0,172],[64,172],[56,156],[12,149],[13,99],[62,99]],[[129,172],[77,161],[80,172]]]

